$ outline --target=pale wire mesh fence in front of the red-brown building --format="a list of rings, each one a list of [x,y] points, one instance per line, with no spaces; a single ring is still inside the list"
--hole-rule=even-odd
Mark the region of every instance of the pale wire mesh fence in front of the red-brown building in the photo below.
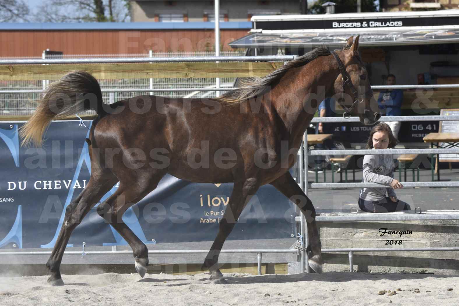
[[[242,51],[223,51],[220,56],[243,56]],[[92,55],[61,55],[46,56],[46,58],[116,58],[116,57],[149,57],[149,54],[92,54]],[[179,57],[179,56],[215,56],[214,52],[157,52],[152,53],[152,57]],[[27,59],[42,58],[28,57]],[[2,58],[15,59],[15,58]],[[215,78],[136,78],[136,79],[99,79],[101,89],[135,89],[135,88],[213,88]],[[221,87],[232,87],[235,78],[220,78]],[[43,89],[46,81],[2,81],[0,80],[0,90],[33,90]],[[36,108],[34,100],[39,99],[39,93],[9,93],[0,94],[0,116],[28,116]],[[112,95],[112,96],[110,96]],[[112,103],[119,100],[129,99],[137,95],[162,95],[169,98],[212,98],[215,97],[214,91],[207,92],[103,92],[104,103]],[[83,114],[94,114],[94,111],[86,111]]]

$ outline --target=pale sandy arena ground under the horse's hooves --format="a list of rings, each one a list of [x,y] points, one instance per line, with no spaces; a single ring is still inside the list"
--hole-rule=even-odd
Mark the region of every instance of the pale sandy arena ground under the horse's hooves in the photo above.
[[[0,305],[459,305],[459,276],[224,275],[227,285],[211,284],[207,273],[62,275],[62,287],[50,286],[47,276],[0,277]]]

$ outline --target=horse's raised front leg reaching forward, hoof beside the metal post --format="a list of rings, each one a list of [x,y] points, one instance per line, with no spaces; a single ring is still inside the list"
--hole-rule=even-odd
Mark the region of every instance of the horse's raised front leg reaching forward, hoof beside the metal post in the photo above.
[[[308,264],[315,272],[322,273],[322,254],[320,252],[322,245],[320,244],[319,231],[315,221],[316,213],[312,201],[304,194],[288,171],[270,184],[295,203],[306,217],[309,241],[307,249]]]

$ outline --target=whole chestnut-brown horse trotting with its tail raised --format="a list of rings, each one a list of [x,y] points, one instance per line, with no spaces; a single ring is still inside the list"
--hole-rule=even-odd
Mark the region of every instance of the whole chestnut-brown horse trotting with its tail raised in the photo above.
[[[356,87],[364,89],[364,94],[359,95]],[[295,163],[318,102],[335,94],[350,100],[343,102],[353,104],[347,110],[349,115],[352,111],[364,124],[374,124],[381,116],[358,54],[358,37],[355,42],[353,37],[348,39],[336,53],[314,49],[248,87],[209,100],[142,95],[107,106],[102,102],[99,83],[87,72],[70,72],[51,83],[21,130],[23,145],[40,145],[51,120],[85,109],[95,110],[98,117],[86,139],[91,177],[67,208],[46,263],[51,274],[48,281],[63,284],[60,264],[73,229],[118,181],[116,192],[97,211],[129,243],[137,272],[143,277],[148,265],[147,247],[121,217],[129,206],[155,189],[166,173],[193,182],[234,183],[217,237],[203,264],[212,273],[213,283],[226,283],[218,269],[218,255],[244,206],[264,184],[273,185],[307,217],[308,263],[321,273],[315,210],[288,170]],[[190,158],[196,150],[204,152],[200,161],[196,161],[196,154]]]

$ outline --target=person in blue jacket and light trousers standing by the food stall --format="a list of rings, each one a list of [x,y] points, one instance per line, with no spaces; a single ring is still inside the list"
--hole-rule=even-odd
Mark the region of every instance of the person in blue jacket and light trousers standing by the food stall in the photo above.
[[[388,74],[386,79],[387,85],[395,85],[396,79],[393,74]],[[382,116],[402,116],[403,90],[386,89],[379,94],[378,105],[381,109]],[[382,118],[381,118],[382,119]],[[384,121],[381,121],[384,122]],[[400,130],[399,121],[387,121],[386,123],[392,130],[395,139],[398,139]]]

